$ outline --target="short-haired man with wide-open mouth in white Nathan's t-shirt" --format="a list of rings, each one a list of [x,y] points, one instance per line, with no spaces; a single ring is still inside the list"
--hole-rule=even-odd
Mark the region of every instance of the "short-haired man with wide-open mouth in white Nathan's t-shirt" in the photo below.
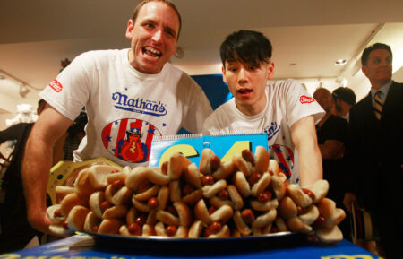
[[[131,168],[148,165],[154,135],[176,134],[181,127],[200,133],[212,112],[201,87],[167,62],[176,53],[181,28],[175,5],[167,0],[143,1],[133,17],[125,32],[130,48],[77,56],[40,93],[50,107],[32,129],[22,175],[28,219],[42,232],[54,234],[46,212],[52,146],[81,108],[86,108],[88,124],[78,150],[73,152],[74,161],[104,157]],[[127,130],[142,133],[140,142],[144,145],[127,149],[143,154],[136,162],[125,159],[132,154],[121,156],[118,152]],[[143,150],[144,146],[147,149]]]

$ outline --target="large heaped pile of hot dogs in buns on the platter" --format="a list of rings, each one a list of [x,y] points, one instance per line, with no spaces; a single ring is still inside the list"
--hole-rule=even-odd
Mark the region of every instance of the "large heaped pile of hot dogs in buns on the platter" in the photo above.
[[[290,185],[276,160],[257,147],[221,162],[210,149],[200,167],[180,153],[160,168],[94,165],[74,185],[57,186],[48,207],[58,234],[87,231],[124,236],[246,237],[292,231],[338,242],[346,217],[320,180]]]

